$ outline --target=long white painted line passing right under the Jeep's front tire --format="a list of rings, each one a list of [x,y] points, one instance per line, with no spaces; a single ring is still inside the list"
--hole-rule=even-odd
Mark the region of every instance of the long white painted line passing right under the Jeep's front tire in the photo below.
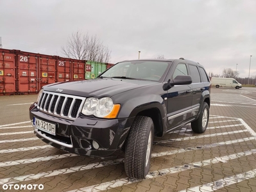
[[[239,152],[237,154],[231,154],[229,156],[222,156],[219,157],[219,160],[221,161],[226,161],[226,160],[232,160],[232,159],[238,159],[239,157],[244,157],[244,156],[250,156],[252,154],[256,154],[256,149],[253,150],[248,150],[246,152]],[[169,175],[169,174],[173,174],[173,173],[178,173],[178,172],[183,172],[185,170],[192,170],[194,168],[200,168],[201,166],[207,166],[210,164],[216,164],[216,163],[220,163],[221,161],[219,161],[216,158],[213,159],[207,159],[204,161],[198,161],[196,163],[190,163],[190,164],[183,164],[182,166],[175,166],[172,168],[166,168],[166,169],[162,169],[162,170],[157,170],[154,172],[150,172],[148,175],[146,175],[146,179],[152,179],[155,177],[159,177],[162,175]],[[80,188],[80,189],[74,189],[68,192],[75,192],[75,191],[106,191],[108,189],[113,189],[113,188],[117,188],[117,187],[121,187],[121,186],[125,186],[127,184],[132,184],[134,182],[139,182],[141,180],[130,180],[128,179],[128,177],[123,178],[123,179],[117,179],[117,180],[112,180],[110,182],[104,182],[101,184],[97,184],[94,186],[89,186],[89,187],[85,187],[85,188]]]

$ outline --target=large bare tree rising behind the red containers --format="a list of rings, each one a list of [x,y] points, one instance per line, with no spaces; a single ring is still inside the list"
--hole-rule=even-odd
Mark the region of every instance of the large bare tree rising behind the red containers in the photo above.
[[[77,31],[69,36],[67,45],[62,46],[62,53],[68,58],[107,63],[111,51],[96,35],[89,36],[88,33]]]

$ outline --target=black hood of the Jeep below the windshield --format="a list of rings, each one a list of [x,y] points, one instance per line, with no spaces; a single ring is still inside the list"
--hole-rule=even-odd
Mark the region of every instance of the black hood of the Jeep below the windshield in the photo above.
[[[61,92],[68,95],[81,97],[112,97],[118,93],[126,92],[157,84],[155,81],[139,81],[131,79],[91,79],[85,81],[72,81],[48,84],[44,90],[49,92]]]

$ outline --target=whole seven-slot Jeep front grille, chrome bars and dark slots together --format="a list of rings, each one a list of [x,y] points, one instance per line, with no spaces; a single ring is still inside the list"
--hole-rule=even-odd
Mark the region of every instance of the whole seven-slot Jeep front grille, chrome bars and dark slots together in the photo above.
[[[37,108],[50,115],[74,120],[83,108],[85,99],[85,97],[44,91],[38,101]]]

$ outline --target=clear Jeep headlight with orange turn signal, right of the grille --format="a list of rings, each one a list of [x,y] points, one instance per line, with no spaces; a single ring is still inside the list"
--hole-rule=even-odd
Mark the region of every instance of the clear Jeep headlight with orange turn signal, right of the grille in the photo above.
[[[96,99],[90,97],[85,100],[81,113],[83,115],[94,115],[103,118],[115,118],[119,112],[120,105],[114,104],[110,97]]]

